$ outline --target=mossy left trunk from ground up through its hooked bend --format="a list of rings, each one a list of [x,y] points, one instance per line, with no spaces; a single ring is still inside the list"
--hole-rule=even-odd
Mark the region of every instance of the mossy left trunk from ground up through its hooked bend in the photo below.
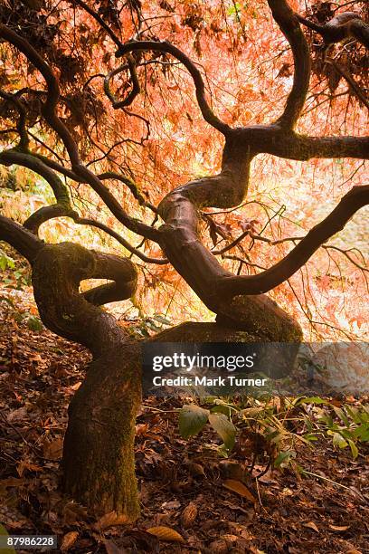
[[[64,492],[94,515],[117,511],[134,521],[139,514],[134,437],[141,401],[140,349],[112,316],[80,294],[79,284],[106,277],[110,263],[127,298],[129,283],[136,286],[135,272],[128,271],[127,260],[118,272],[116,257],[105,256],[100,267],[100,257],[78,244],[45,245],[33,262],[33,291],[48,328],[87,346],[93,355],[69,408]]]

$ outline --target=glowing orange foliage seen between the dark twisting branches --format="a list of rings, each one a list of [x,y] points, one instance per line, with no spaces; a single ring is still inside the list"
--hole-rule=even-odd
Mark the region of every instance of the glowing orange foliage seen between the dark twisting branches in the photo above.
[[[10,0],[8,4],[13,5]],[[98,3],[88,4],[96,8]],[[305,5],[290,2],[296,10],[301,10],[301,4]],[[122,60],[115,58],[116,47],[99,24],[77,4],[65,0],[47,0],[36,11],[23,3],[17,5],[15,15],[29,24],[22,32],[59,77],[59,114],[78,140],[83,162],[96,173],[112,170],[132,177],[144,196],[157,205],[175,186],[219,170],[222,138],[203,121],[194,99],[193,81],[182,65],[166,55],[143,54],[137,61],[142,91],[128,108],[114,110],[103,91],[103,76]],[[364,4],[357,2],[356,9],[364,10]],[[140,38],[167,40],[187,53],[203,72],[213,110],[225,122],[233,126],[268,123],[280,115],[291,87],[293,62],[289,44],[272,21],[266,2],[103,0],[99,13],[122,42],[135,37],[141,20]],[[1,88],[7,92],[24,87],[45,89],[40,74],[23,55],[5,43],[0,44],[0,55]],[[118,99],[127,96],[130,86],[127,71],[119,72],[110,82]],[[311,135],[363,134],[364,108],[347,88],[345,80],[340,80],[335,91],[330,91],[325,78],[315,74],[298,131]],[[65,163],[61,141],[39,117],[37,95],[25,95],[24,103],[34,137],[33,151]],[[7,108],[2,116],[2,129],[14,127],[14,110]],[[14,135],[0,138],[5,146],[14,144]],[[45,144],[52,148],[52,154]],[[364,183],[364,169],[363,162],[357,160],[301,163],[260,156],[252,164],[244,205],[214,215],[213,221],[229,234],[229,242],[250,222],[254,232],[262,231],[270,241],[307,234],[353,184]],[[131,244],[139,243],[109,215],[88,186],[73,181],[68,184],[80,214],[92,213],[124,234]],[[124,185],[112,181],[109,186],[130,215],[151,224],[153,215],[137,205]],[[5,194],[0,196],[1,204],[9,209]],[[208,210],[212,212],[217,210]],[[329,243],[347,250],[348,257],[335,249],[320,249],[290,282],[271,292],[281,306],[298,317],[307,337],[310,333],[310,337],[323,339],[363,338],[367,333],[367,272],[358,267],[364,267],[361,253],[348,252],[358,248],[367,253],[362,218],[362,214],[356,215],[354,222]],[[60,235],[52,235],[53,227],[54,222],[46,224],[44,235],[48,240],[61,240]],[[71,239],[75,233],[76,227],[66,221],[62,240]],[[99,247],[122,252],[118,244],[111,240],[103,243],[98,236]],[[81,235],[77,240],[82,240]],[[83,238],[86,240],[94,245],[91,234]],[[217,240],[217,248],[226,244],[220,234]],[[205,223],[203,241],[213,248]],[[234,272],[260,272],[288,253],[291,245],[255,241],[249,236],[227,252],[249,265],[242,263],[240,267],[238,260],[229,258],[222,263]],[[148,242],[144,251],[150,256],[161,255],[157,246]],[[170,265],[139,262],[138,266],[141,287],[137,301],[147,313],[160,311],[173,320],[210,317]]]

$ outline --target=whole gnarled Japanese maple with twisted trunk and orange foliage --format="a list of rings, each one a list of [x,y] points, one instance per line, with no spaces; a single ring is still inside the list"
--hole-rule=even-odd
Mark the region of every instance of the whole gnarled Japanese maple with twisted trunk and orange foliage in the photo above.
[[[159,295],[153,282],[170,282],[176,272],[216,314],[215,322],[185,323],[153,340],[300,341],[296,313],[266,293],[278,289],[283,299],[283,287],[321,247],[342,254],[363,286],[361,255],[328,241],[369,204],[368,185],[350,187],[298,236],[274,235],[283,211],[270,212],[261,196],[250,201],[247,217],[232,212],[247,207],[258,178],[251,168],[261,167],[252,164],[264,155],[287,164],[369,158],[360,129],[357,136],[339,132],[342,112],[346,126],[360,128],[368,109],[368,10],[350,4],[355,11],[312,3],[307,13],[285,0],[243,7],[225,0],[2,4],[0,163],[42,177],[55,202],[19,222],[0,215],[0,239],[31,264],[43,323],[92,353],[71,402],[62,460],[65,492],[91,510],[128,520],[138,514],[140,343],[100,309],[135,294],[132,257],[145,275],[140,287]],[[322,122],[326,99],[334,113]],[[311,127],[319,132],[307,132]],[[284,194],[306,208],[298,189]],[[60,217],[107,234],[120,251],[45,242],[43,226]],[[263,246],[279,248],[270,254]],[[332,275],[318,277],[328,289]],[[81,292],[88,279],[109,283]]]

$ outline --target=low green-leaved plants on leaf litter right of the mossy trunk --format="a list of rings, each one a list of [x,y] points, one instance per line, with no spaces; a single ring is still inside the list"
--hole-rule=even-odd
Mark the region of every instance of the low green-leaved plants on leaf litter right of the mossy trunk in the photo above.
[[[312,447],[320,439],[335,447],[349,448],[356,458],[369,443],[369,406],[357,403],[337,407],[319,396],[296,398],[206,398],[212,406],[185,405],[179,412],[179,431],[184,438],[198,435],[206,424],[221,436],[218,454],[231,452],[255,463],[283,469],[289,465],[303,472],[296,461],[298,444]],[[214,448],[213,445],[207,445]]]

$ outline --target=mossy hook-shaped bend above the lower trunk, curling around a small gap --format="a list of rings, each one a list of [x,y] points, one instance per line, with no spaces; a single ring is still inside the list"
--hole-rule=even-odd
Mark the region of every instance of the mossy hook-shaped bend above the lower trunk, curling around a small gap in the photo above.
[[[33,294],[43,323],[61,337],[86,346],[94,358],[114,348],[125,335],[115,318],[93,303],[106,300],[107,291],[97,291],[95,298],[89,291],[91,302],[80,294],[81,281],[100,276],[117,278],[116,299],[129,298],[135,291],[133,263],[105,257],[80,244],[45,244],[33,262]]]

